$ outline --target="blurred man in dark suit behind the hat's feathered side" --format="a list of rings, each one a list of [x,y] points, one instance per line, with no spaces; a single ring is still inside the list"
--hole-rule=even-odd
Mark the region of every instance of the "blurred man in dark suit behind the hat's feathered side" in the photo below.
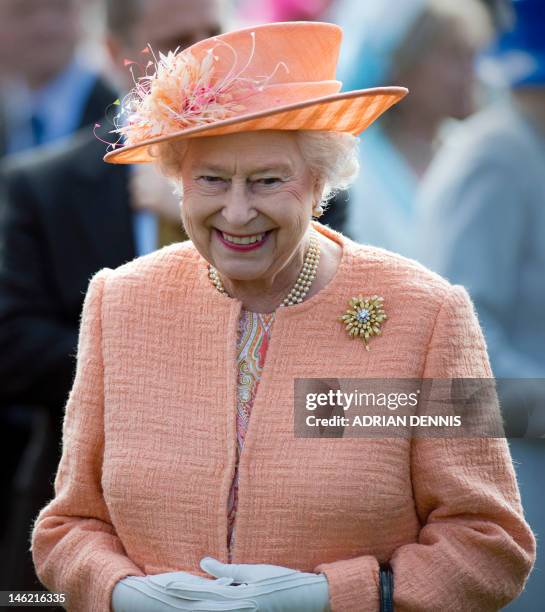
[[[220,32],[219,1],[108,0],[106,6],[108,47],[119,66],[140,59],[147,43],[168,50]],[[33,421],[13,487],[7,562],[0,564],[4,589],[40,588],[28,538],[53,496],[88,281],[100,268],[158,245],[157,227],[135,202],[135,169],[105,164],[104,153],[105,145],[84,130],[69,144],[21,156],[1,171],[0,405],[4,414],[17,409],[10,431],[25,409]]]

